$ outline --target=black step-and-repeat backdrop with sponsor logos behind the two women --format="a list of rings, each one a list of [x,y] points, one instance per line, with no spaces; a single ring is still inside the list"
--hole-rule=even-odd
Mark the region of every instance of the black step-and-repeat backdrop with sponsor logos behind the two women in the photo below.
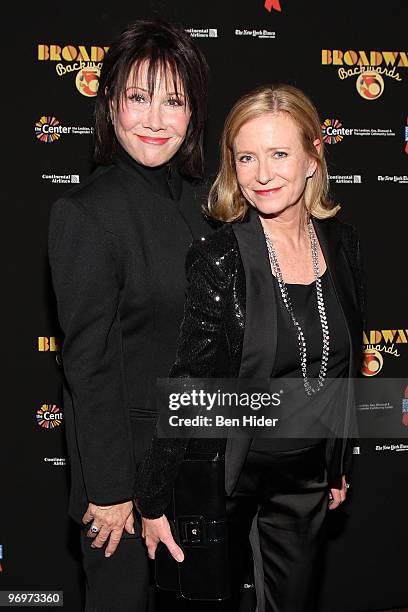
[[[56,350],[60,332],[46,260],[48,214],[69,184],[90,172],[92,93],[100,60],[91,47],[108,47],[125,25],[153,15],[181,22],[208,58],[209,172],[217,168],[225,115],[241,94],[261,83],[284,81],[315,101],[328,141],[332,192],[342,204],[340,216],[356,226],[364,247],[369,298],[365,374],[377,380],[406,378],[408,384],[405,1],[374,6],[312,0],[125,0],[34,2],[24,9],[4,9],[7,393],[1,426],[0,590],[63,590],[64,607],[73,611],[80,609],[80,570],[66,517],[68,469]],[[85,66],[78,63],[80,52]],[[87,61],[91,53],[93,64]],[[368,70],[370,64],[377,73],[371,71],[360,86],[356,67]],[[353,74],[340,78],[348,73],[339,69]],[[46,142],[55,135],[47,128],[50,123],[63,131]],[[378,439],[362,439],[356,447],[350,498],[330,517],[324,612],[408,606],[408,455],[403,452],[408,428],[402,398],[403,392],[388,410],[396,439],[384,439],[379,406],[365,413]]]

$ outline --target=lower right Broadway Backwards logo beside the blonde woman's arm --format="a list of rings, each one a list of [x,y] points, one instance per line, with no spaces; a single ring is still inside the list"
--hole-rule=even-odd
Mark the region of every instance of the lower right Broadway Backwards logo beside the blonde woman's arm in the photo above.
[[[408,329],[372,329],[364,333],[361,373],[364,376],[379,374],[384,365],[384,355],[400,357],[401,344],[408,344]]]

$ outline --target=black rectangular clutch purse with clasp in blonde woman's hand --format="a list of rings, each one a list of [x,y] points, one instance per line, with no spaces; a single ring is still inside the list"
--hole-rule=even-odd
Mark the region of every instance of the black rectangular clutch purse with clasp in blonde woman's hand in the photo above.
[[[230,596],[224,483],[222,455],[186,454],[165,512],[184,561],[177,563],[159,544],[155,581],[160,589],[191,600]]]

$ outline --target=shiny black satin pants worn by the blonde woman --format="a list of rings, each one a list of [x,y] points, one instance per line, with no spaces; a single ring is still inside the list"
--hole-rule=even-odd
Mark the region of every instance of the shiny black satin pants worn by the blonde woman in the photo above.
[[[227,498],[233,597],[226,609],[253,612],[258,600],[259,612],[316,610],[327,505],[324,443],[249,452]]]

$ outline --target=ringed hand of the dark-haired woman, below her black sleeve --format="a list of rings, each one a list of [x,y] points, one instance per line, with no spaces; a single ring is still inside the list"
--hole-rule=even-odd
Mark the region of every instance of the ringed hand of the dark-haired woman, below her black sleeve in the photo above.
[[[127,501],[112,506],[97,506],[89,504],[88,509],[82,517],[82,522],[86,525],[92,521],[92,525],[87,532],[87,536],[94,538],[92,548],[102,548],[107,540],[105,557],[113,555],[118,547],[123,530],[128,533],[135,533],[133,524],[133,502]],[[96,532],[92,528],[97,529]]]

